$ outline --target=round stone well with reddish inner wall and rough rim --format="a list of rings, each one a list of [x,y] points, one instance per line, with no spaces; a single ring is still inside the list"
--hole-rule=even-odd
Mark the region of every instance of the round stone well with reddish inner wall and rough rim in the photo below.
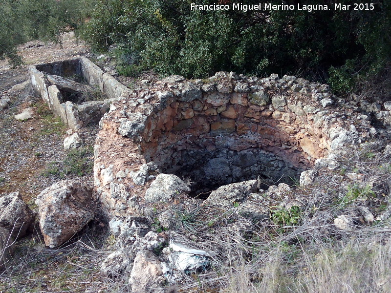
[[[159,172],[190,176],[196,191],[258,176],[287,182],[375,132],[368,116],[336,104],[326,84],[293,76],[219,72],[136,88],[100,122],[95,187],[110,214],[124,215],[141,213]]]

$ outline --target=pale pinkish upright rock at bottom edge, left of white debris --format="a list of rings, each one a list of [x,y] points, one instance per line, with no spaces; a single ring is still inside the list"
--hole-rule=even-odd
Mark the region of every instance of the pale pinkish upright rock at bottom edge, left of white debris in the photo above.
[[[151,251],[139,251],[134,259],[129,283],[132,293],[150,293],[163,285],[159,259]]]

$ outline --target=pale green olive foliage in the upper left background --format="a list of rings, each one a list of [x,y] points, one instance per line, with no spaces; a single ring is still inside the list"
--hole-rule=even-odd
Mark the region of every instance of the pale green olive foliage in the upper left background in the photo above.
[[[22,63],[16,46],[41,39],[61,42],[60,34],[84,24],[96,0],[0,0],[0,60]]]

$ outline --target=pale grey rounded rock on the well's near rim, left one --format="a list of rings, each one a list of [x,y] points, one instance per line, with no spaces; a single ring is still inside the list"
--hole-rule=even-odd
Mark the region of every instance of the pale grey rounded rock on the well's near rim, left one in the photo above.
[[[172,174],[159,174],[150,188],[145,192],[145,201],[154,203],[169,201],[178,197],[182,192],[189,192],[190,188],[178,176]]]

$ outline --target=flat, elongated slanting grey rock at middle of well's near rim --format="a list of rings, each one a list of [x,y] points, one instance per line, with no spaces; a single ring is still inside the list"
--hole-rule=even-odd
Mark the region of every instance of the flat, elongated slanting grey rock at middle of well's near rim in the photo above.
[[[249,180],[220,186],[211,192],[203,205],[230,209],[234,207],[234,203],[244,201],[250,193],[255,192],[257,184],[257,180]]]

